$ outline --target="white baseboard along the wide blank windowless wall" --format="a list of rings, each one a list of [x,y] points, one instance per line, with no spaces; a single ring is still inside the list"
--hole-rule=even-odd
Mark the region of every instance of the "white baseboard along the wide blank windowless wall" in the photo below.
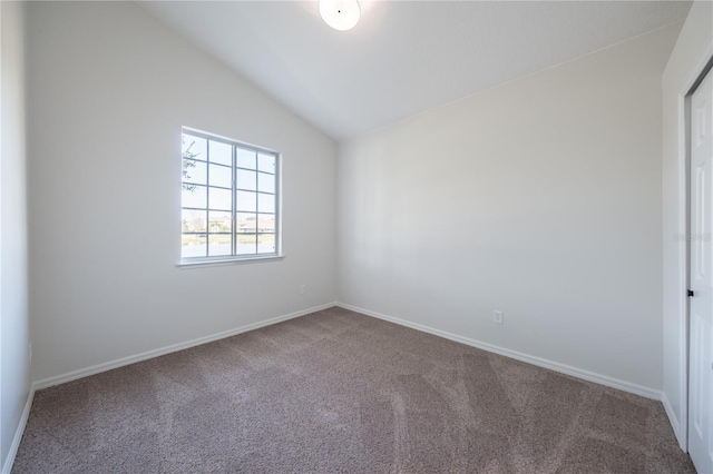
[[[662,399],[661,391],[645,387],[643,385],[632,384],[631,382],[621,381],[618,378],[609,377],[607,375],[597,374],[594,372],[585,371],[583,368],[573,367],[570,365],[560,364],[558,362],[548,361],[548,359],[535,357],[528,354],[518,353],[516,350],[506,349],[504,347],[495,346],[492,344],[471,339],[469,337],[458,336],[456,334],[447,333],[445,330],[434,329],[429,326],[411,323],[406,319],[400,319],[393,316],[388,316],[381,313],[372,312],[369,309],[360,308],[360,307],[348,305],[344,303],[336,303],[336,306],[340,306],[345,309],[351,309],[353,312],[361,313],[367,316],[372,316],[379,319],[388,320],[390,323],[394,323],[401,326],[410,327],[411,329],[417,329],[423,333],[432,334],[434,336],[445,337],[446,339],[455,340],[457,343],[461,343],[467,346],[477,347],[479,349],[488,350],[506,357],[515,358],[517,361],[526,362],[528,364],[537,365],[538,367],[549,368],[550,371],[559,372],[560,374],[566,374],[573,377],[583,378],[588,382],[594,382],[595,384],[606,385],[607,387],[617,388],[635,395],[644,396],[646,398],[652,398],[656,401]]]

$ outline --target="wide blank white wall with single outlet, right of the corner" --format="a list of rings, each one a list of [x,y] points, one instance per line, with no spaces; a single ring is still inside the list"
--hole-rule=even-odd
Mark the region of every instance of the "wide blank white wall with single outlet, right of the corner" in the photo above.
[[[680,28],[340,146],[340,302],[660,391],[661,75]]]

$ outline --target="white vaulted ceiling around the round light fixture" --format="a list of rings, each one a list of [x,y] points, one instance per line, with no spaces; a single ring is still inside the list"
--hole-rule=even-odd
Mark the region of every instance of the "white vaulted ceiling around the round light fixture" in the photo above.
[[[139,2],[335,140],[685,19],[688,1]]]

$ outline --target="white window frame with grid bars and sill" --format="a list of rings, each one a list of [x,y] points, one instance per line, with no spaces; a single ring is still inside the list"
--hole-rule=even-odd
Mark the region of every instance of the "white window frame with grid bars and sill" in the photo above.
[[[194,128],[189,128],[189,127],[182,127],[180,130],[180,136],[183,138],[184,135],[188,135],[188,136],[193,136],[196,138],[202,138],[205,140],[212,140],[212,141],[217,141],[217,142],[222,142],[225,145],[229,145],[232,148],[232,165],[231,165],[231,171],[232,171],[232,186],[231,186],[231,194],[232,194],[232,199],[231,199],[231,255],[216,255],[216,256],[196,256],[196,257],[184,257],[183,256],[183,241],[179,241],[179,260],[177,266],[178,267],[202,267],[202,266],[213,266],[213,265],[226,265],[226,264],[237,264],[237,263],[245,263],[245,261],[256,261],[256,260],[271,260],[271,259],[280,259],[280,258],[284,258],[284,255],[282,254],[282,154],[265,147],[258,147],[255,145],[251,145],[251,144],[246,144],[243,141],[238,141],[238,140],[234,140],[231,138],[226,138],[226,137],[222,137],[215,134],[209,134],[206,131],[202,131],[202,130],[197,130]],[[237,235],[237,221],[236,221],[236,217],[238,214],[241,214],[241,211],[237,209],[237,192],[242,189],[240,189],[237,187],[237,170],[238,169],[248,169],[248,168],[243,168],[243,167],[238,167],[237,166],[237,150],[242,149],[242,150],[247,150],[247,151],[252,151],[257,154],[264,154],[264,155],[272,155],[275,158],[275,172],[274,172],[274,179],[275,179],[275,189],[274,189],[274,200],[275,200],[275,208],[274,208],[274,216],[275,216],[275,231],[274,231],[274,236],[275,236],[275,250],[273,253],[263,253],[263,254],[237,254],[237,239],[236,239],[236,235]],[[209,154],[209,151],[208,151]],[[201,185],[201,184],[195,184],[197,186],[205,186],[206,190],[207,188],[211,187],[215,187],[215,186],[211,186],[211,180],[209,180],[209,164],[212,161],[208,161],[209,156],[206,156],[204,158],[196,158],[196,161],[201,161],[201,162],[205,162],[206,164],[206,182],[205,185]],[[180,156],[180,165],[183,167],[183,152]],[[268,175],[264,171],[261,171],[260,166],[256,164],[255,165],[255,169],[250,168],[250,170],[255,171],[256,172],[256,178],[260,179],[261,172],[263,175]],[[182,168],[183,169],[183,168]],[[179,213],[183,215],[183,209],[184,209],[184,203],[183,203],[183,187],[184,185],[193,185],[191,181],[185,181],[184,180],[184,176],[182,172],[182,177],[180,177],[180,205],[179,205]],[[225,188],[227,189],[227,188]],[[256,195],[260,194],[268,194],[270,192],[265,192],[265,191],[260,191],[257,190],[257,186],[255,188],[255,190],[251,190],[252,192],[255,192]],[[257,197],[257,196],[256,196]],[[193,209],[193,210],[205,210],[206,214],[211,210],[209,207],[209,201],[206,200],[206,207],[205,208],[192,208],[192,207],[187,207],[186,209]],[[227,210],[224,210],[227,213]],[[260,213],[258,208],[256,208],[255,213],[257,216],[260,216],[260,214],[271,214],[271,213]],[[182,219],[183,220],[183,219]],[[193,233],[185,233],[184,228],[183,228],[183,221],[180,224],[180,233],[179,233],[179,239],[183,239],[184,234],[193,234]],[[212,234],[209,228],[209,223],[206,216],[206,254],[208,253],[208,247],[209,247],[209,238],[208,236]],[[270,233],[260,233],[260,229],[257,227],[257,223],[256,223],[256,227],[255,227],[255,235],[257,236],[257,243],[258,244],[258,239],[260,239],[260,234],[270,234]]]

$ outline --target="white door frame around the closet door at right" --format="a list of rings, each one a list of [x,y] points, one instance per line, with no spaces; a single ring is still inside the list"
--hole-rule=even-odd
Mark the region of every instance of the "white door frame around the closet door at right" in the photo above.
[[[713,69],[713,39],[709,42],[703,55],[688,73],[687,80],[678,92],[678,229],[682,235],[691,235],[691,96],[703,81],[705,75]],[[678,444],[684,452],[688,452],[688,350],[690,350],[690,300],[686,296],[690,280],[691,241],[678,248],[678,364],[681,379],[678,391],[681,397],[681,417],[677,431]]]

